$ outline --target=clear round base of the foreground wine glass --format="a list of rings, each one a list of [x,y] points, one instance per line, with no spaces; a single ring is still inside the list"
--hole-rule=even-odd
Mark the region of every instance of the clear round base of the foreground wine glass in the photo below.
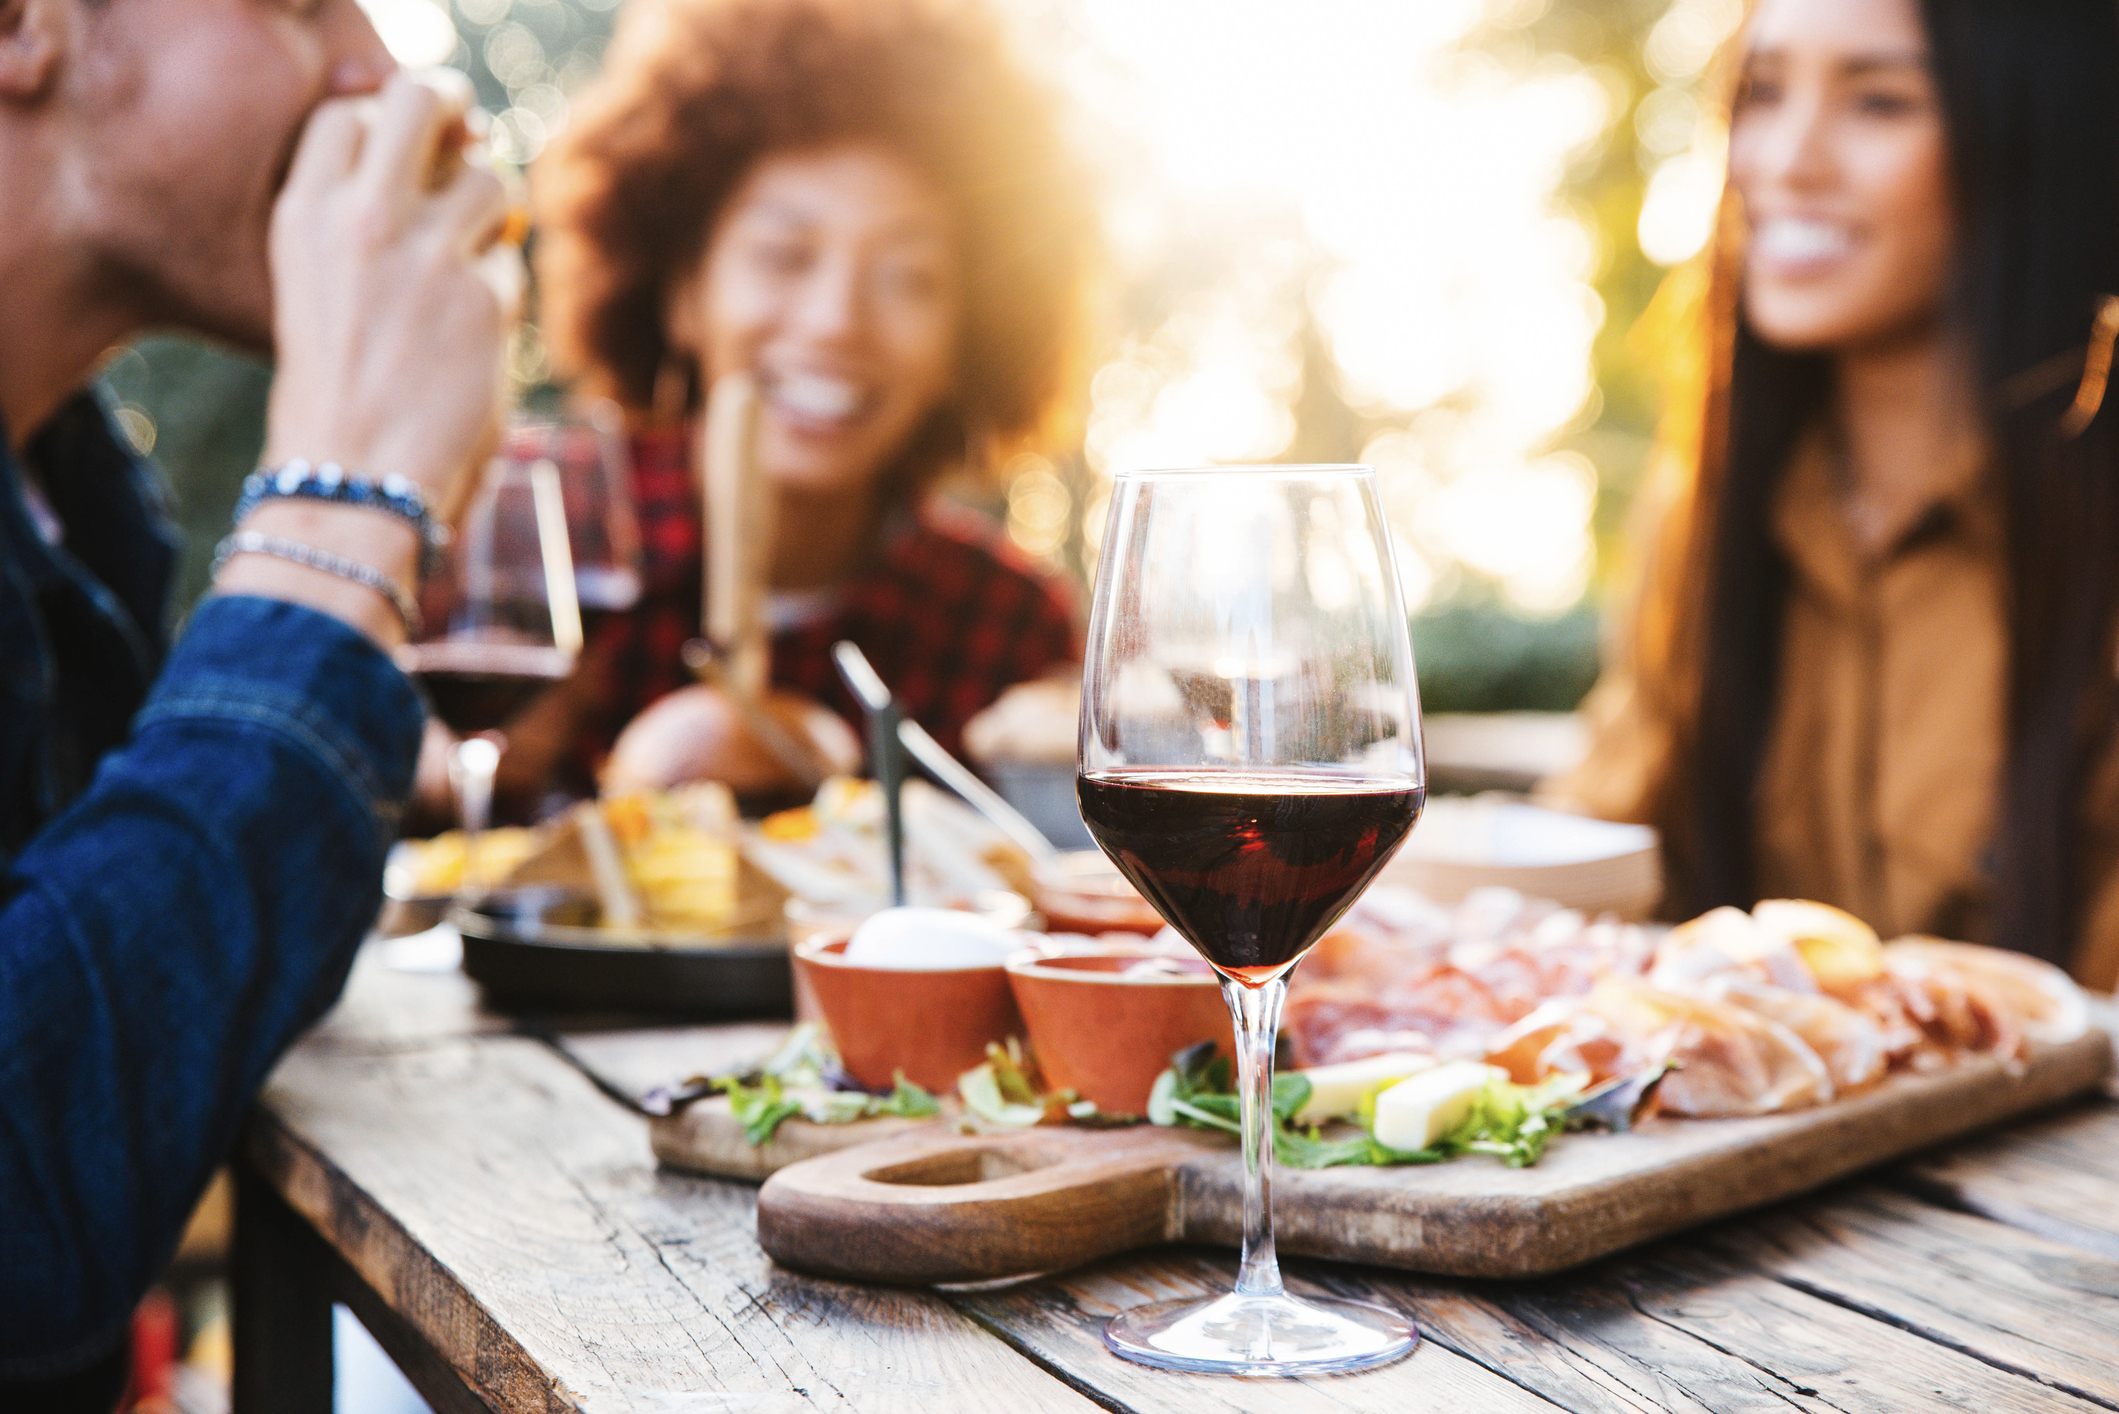
[[[1104,1344],[1163,1369],[1301,1376],[1388,1365],[1411,1355],[1420,1331],[1367,1302],[1229,1293],[1121,1310],[1104,1325]]]

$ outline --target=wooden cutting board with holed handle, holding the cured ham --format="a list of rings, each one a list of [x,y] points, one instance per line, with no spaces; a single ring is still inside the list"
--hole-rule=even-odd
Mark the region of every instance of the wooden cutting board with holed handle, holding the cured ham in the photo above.
[[[1409,1168],[1278,1168],[1276,1238],[1282,1253],[1543,1276],[2053,1104],[2094,1088],[2111,1064],[2111,1039],[2091,1030],[2032,1047],[2019,1073],[1977,1058],[1788,1115],[1566,1134],[1532,1168],[1479,1155]],[[759,1191],[759,1244],[782,1266],[824,1276],[990,1280],[1153,1242],[1242,1242],[1235,1145],[1197,1130],[966,1136],[937,1121],[788,1121],[761,1151],[725,1104],[718,1119],[701,1104],[655,1121],[655,1153],[729,1177],[784,1164]]]

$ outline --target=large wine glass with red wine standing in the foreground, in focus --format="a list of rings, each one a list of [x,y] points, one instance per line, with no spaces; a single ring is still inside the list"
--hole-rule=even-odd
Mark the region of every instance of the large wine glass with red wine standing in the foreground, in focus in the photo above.
[[[1420,818],[1420,695],[1367,466],[1117,477],[1089,611],[1076,789],[1089,833],[1221,973],[1237,1035],[1235,1291],[1125,1310],[1146,1365],[1329,1374],[1399,1359],[1401,1314],[1297,1300],[1271,1210],[1274,1037],[1288,971]]]

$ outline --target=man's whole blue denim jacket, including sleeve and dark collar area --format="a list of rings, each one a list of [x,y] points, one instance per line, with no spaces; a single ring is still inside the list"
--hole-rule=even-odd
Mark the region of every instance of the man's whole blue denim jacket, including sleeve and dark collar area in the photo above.
[[[212,598],[102,409],[0,430],[0,1386],[110,1355],[379,903],[420,702],[364,636]],[[159,668],[159,672],[157,672]]]

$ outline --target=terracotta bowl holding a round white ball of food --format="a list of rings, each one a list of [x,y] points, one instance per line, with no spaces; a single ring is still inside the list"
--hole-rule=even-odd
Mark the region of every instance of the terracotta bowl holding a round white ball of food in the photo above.
[[[809,988],[839,1064],[869,1090],[890,1090],[896,1071],[934,1094],[985,1060],[990,1041],[1023,1035],[1023,1018],[996,967],[907,971],[845,960],[852,929],[795,943],[795,975]]]

